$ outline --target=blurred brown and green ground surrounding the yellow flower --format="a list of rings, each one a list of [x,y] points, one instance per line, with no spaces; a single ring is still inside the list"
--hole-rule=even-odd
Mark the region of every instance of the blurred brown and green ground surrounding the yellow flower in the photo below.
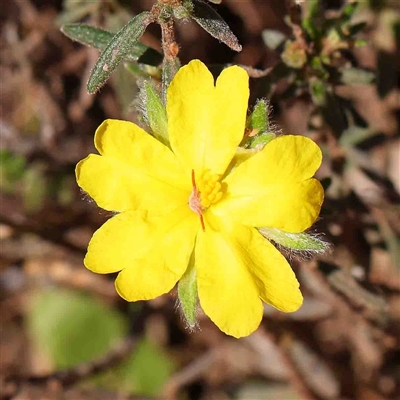
[[[330,251],[288,253],[303,307],[266,306],[241,340],[203,315],[189,332],[175,292],[129,304],[113,276],[82,263],[110,215],[79,191],[75,165],[95,151],[105,118],[143,124],[136,97],[146,73],[121,65],[88,95],[98,50],[59,28],[116,32],[152,5],[1,3],[0,398],[398,399],[400,2],[223,0],[213,7],[241,53],[194,21],[176,25],[182,63],[251,67],[251,105],[270,100],[271,129],[309,136],[324,153],[326,200],[312,232]],[[142,42],[160,51],[159,27]]]

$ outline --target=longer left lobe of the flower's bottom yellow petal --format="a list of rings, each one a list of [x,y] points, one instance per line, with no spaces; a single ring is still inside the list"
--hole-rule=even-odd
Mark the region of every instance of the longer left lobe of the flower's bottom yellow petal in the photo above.
[[[207,212],[197,236],[195,267],[201,307],[221,331],[236,338],[260,325],[263,307],[249,255],[231,232]]]

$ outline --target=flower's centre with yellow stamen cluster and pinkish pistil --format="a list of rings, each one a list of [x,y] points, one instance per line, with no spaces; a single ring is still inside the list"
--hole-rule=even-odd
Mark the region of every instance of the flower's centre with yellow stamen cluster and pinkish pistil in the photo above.
[[[220,179],[220,175],[212,174],[209,170],[206,170],[196,182],[194,170],[192,170],[193,190],[189,196],[189,207],[199,215],[203,230],[205,230],[203,211],[222,198],[223,193],[221,183],[219,182]]]

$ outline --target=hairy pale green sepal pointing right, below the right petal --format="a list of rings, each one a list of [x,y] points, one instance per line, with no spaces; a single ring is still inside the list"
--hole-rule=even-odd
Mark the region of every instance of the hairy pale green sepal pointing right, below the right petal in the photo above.
[[[277,228],[260,228],[259,231],[267,239],[296,251],[308,251],[312,253],[323,253],[329,244],[308,233],[289,233]]]

